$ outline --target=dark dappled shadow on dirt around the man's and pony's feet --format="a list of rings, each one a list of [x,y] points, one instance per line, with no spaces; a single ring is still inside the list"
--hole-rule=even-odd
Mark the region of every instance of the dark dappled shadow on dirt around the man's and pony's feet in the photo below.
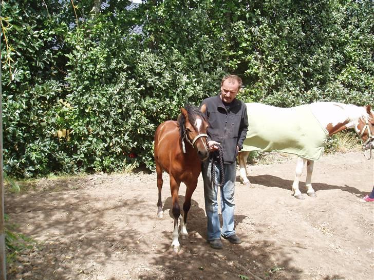
[[[179,196],[180,205],[184,196]],[[173,219],[172,198],[166,198],[164,211],[169,210],[171,221]],[[221,217],[220,217],[221,218]],[[244,215],[235,215],[236,226],[246,218]],[[265,225],[264,225],[265,227]],[[163,234],[165,239],[172,240],[173,224],[169,231]],[[293,267],[292,257],[282,253],[282,246],[266,240],[251,242],[251,236],[241,235],[244,241],[240,245],[230,244],[222,239],[222,250],[212,249],[206,241],[207,217],[199,204],[192,199],[192,206],[188,217],[189,235],[180,239],[179,253],[172,251],[169,244],[164,244],[151,261],[152,276],[149,273],[141,274],[140,279],[297,279],[303,271]],[[261,228],[257,230],[260,234]],[[274,263],[274,259],[282,261]]]

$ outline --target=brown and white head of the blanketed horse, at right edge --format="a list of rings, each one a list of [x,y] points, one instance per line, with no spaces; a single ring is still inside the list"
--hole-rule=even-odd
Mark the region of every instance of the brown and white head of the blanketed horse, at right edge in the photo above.
[[[370,105],[364,106],[365,113],[360,117],[357,125],[358,133],[366,149],[374,149],[374,111]]]

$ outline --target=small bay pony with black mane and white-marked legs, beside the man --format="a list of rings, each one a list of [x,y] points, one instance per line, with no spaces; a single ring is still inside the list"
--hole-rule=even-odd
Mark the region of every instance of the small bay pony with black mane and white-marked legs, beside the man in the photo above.
[[[191,207],[191,197],[196,189],[197,178],[201,171],[200,161],[209,156],[207,147],[207,118],[192,105],[181,108],[178,121],[166,121],[159,125],[155,133],[155,162],[158,188],[158,217],[163,216],[161,189],[162,172],[170,176],[170,191],[173,199],[174,231],[172,247],[179,251],[178,218],[180,218],[180,234],[186,235],[187,214]],[[183,204],[183,217],[178,201],[180,183],[186,185]]]

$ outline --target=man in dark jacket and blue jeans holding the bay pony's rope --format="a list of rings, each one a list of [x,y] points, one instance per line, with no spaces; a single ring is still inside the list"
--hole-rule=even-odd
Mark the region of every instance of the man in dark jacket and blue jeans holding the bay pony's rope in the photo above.
[[[221,92],[214,97],[206,98],[201,103],[201,111],[209,117],[207,144],[214,158],[215,181],[212,184],[211,162],[202,163],[201,172],[204,181],[205,211],[208,216],[208,242],[214,249],[222,249],[221,236],[233,244],[241,240],[234,230],[234,191],[236,178],[236,155],[248,131],[247,107],[236,99],[241,88],[241,78],[228,75],[222,78]],[[225,183],[220,189],[222,230],[218,217],[218,182],[220,182],[220,165],[217,161],[218,145],[223,150],[223,170]]]

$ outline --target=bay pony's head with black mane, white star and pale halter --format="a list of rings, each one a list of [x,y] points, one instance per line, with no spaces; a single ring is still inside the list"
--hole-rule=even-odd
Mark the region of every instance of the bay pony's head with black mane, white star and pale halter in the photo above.
[[[185,139],[196,149],[200,160],[205,161],[209,156],[207,147],[207,117],[198,107],[192,105],[185,105],[184,108],[180,108],[180,111],[181,114],[178,117],[178,123],[182,145],[184,145]]]

